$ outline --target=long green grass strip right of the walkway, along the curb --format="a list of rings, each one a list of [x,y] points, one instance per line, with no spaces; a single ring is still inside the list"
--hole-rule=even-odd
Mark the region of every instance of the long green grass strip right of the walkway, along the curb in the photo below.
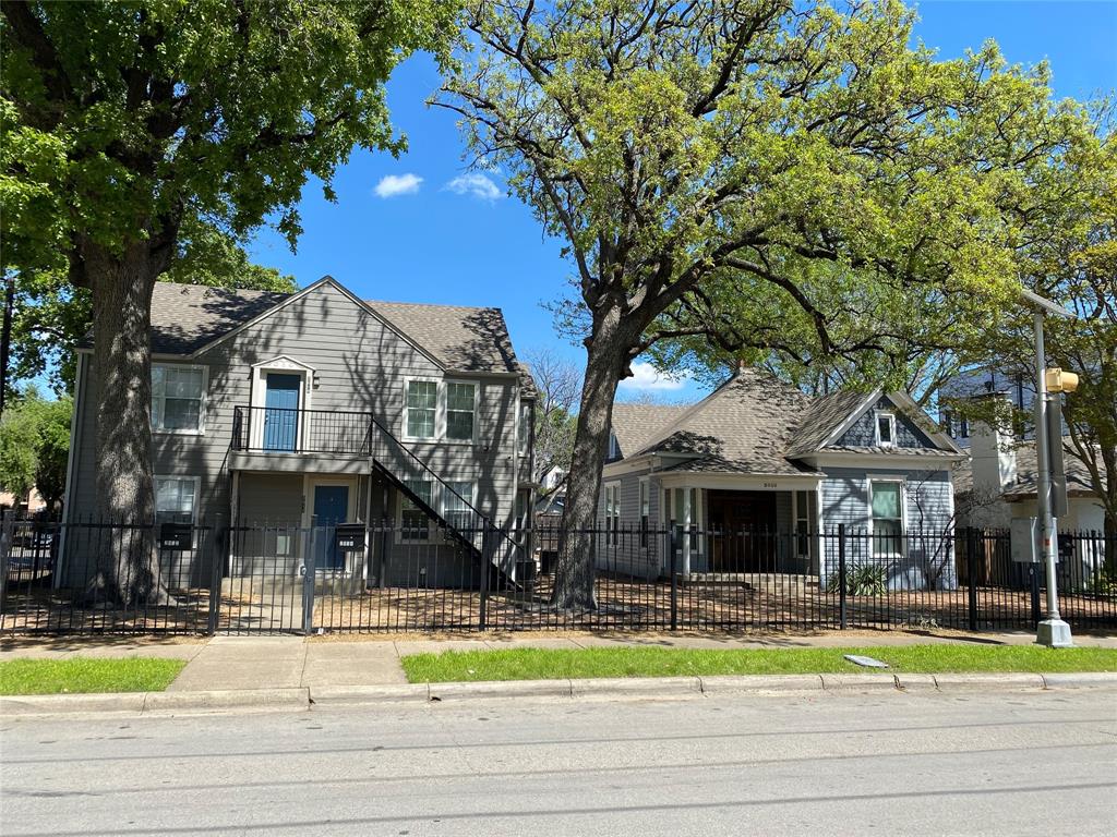
[[[514,648],[448,651],[402,658],[412,683],[666,677],[713,674],[834,674],[872,672],[842,657],[865,654],[899,672],[1117,672],[1117,650],[1038,645],[899,645],[861,648]]]

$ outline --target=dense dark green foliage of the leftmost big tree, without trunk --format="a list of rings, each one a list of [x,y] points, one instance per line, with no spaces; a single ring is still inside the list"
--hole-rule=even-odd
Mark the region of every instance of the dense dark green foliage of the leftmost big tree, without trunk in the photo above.
[[[294,247],[311,177],[332,198],[355,145],[404,147],[383,83],[414,50],[445,60],[456,13],[435,0],[6,3],[0,268],[19,280],[17,376],[57,363],[68,389],[90,264],[136,242],[172,281],[289,287],[247,261],[244,237],[269,220]]]

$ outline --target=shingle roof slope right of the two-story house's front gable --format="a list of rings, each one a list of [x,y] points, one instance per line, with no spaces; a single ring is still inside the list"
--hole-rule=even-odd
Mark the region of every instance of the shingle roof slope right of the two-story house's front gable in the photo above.
[[[521,372],[499,308],[378,300],[366,305],[450,369]]]

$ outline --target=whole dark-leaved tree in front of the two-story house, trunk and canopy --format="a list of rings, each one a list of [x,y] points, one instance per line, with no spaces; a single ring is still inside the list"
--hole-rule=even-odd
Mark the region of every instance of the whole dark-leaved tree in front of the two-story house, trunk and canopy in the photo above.
[[[354,146],[399,152],[384,81],[414,50],[446,55],[437,0],[4,2],[6,268],[49,262],[90,294],[97,497],[154,518],[150,315],[183,219],[235,234],[274,222],[294,246],[311,177],[332,198]],[[101,568],[109,597],[159,598],[151,549]],[[126,579],[126,580],[125,580]]]

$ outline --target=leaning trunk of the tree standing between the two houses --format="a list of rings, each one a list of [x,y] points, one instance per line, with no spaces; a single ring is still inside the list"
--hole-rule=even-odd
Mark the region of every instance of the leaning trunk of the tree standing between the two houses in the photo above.
[[[598,538],[598,498],[613,416],[617,384],[629,364],[632,338],[620,311],[595,317],[588,341],[585,379],[574,435],[574,453],[566,477],[555,588],[551,603],[560,609],[593,609],[594,554]]]

